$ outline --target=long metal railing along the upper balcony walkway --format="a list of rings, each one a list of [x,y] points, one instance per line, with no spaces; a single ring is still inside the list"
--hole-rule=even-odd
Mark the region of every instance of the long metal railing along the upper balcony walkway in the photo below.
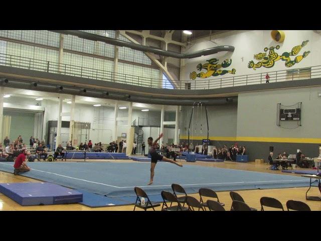
[[[16,55],[0,54],[0,65],[24,68],[36,71],[57,73],[69,76],[104,80],[115,83],[130,84],[150,88],[171,88],[163,79],[122,74],[111,71],[87,68],[70,64],[59,64],[51,61],[32,59]],[[304,70],[309,70],[303,72]],[[224,87],[235,87],[242,85],[265,83],[266,73],[270,76],[270,83],[298,79],[311,79],[321,77],[321,65],[309,68],[285,69],[279,71],[267,71],[239,76],[229,76],[215,79],[195,79],[195,80],[174,80],[172,81],[175,89],[216,89]],[[300,71],[302,70],[302,71]],[[290,73],[291,72],[291,73]]]

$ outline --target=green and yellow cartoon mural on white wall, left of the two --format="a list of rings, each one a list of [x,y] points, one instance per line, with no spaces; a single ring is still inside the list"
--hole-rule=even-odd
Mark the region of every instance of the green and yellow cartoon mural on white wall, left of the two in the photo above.
[[[201,71],[202,69],[205,69],[206,72],[200,72],[196,73],[195,71],[190,73],[190,79],[196,79],[196,77],[199,78],[207,78],[210,76],[218,76],[218,75],[224,75],[227,73],[235,74],[236,69],[232,70],[225,70],[221,68],[227,68],[232,64],[232,59],[226,59],[221,64],[218,64],[219,60],[216,58],[206,60],[208,63],[205,64],[198,64],[197,69]]]

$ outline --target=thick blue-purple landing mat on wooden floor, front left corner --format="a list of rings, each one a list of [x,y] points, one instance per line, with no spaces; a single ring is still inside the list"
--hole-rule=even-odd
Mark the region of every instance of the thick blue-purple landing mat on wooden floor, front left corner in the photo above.
[[[77,203],[83,196],[80,192],[49,182],[1,183],[0,192],[22,206]]]

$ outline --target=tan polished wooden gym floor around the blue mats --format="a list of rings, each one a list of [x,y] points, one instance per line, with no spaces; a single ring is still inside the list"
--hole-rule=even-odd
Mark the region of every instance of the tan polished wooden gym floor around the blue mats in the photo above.
[[[90,160],[86,160],[86,162]],[[97,161],[97,160],[93,160]],[[110,161],[110,162],[133,162],[130,160],[124,161]],[[224,163],[209,163],[209,162],[196,162],[196,163],[187,163],[182,161],[183,165],[200,165],[208,167],[218,167],[218,168],[229,168],[229,169],[239,169],[247,171],[257,171],[257,172],[266,172],[266,173],[278,173],[282,174],[280,171],[271,171],[266,168],[266,164],[255,164],[254,162],[249,163],[235,163],[235,162],[224,162]],[[157,168],[157,167],[156,167]],[[283,175],[295,175],[295,174],[283,174]],[[0,171],[0,183],[15,183],[15,182],[39,182],[38,180],[27,178],[24,176],[15,176],[14,174]],[[305,192],[307,187],[300,188],[279,188],[279,189],[265,189],[265,190],[242,190],[237,191],[245,200],[245,202],[250,206],[260,210],[260,198],[262,196],[274,197],[278,199],[283,207],[286,209],[286,201],[293,199],[298,201],[303,201],[307,203],[311,210],[321,211],[321,202],[319,201],[307,201],[305,200]],[[199,194],[190,194],[193,197],[199,199]],[[309,195],[320,196],[318,188],[312,187],[309,191]],[[229,210],[232,204],[231,197],[229,192],[218,192],[220,202],[225,203],[225,209]],[[273,210],[272,208],[266,208],[267,210]],[[6,211],[22,211],[22,210],[48,210],[48,211],[132,211],[133,205],[127,206],[115,206],[115,207],[102,207],[102,208],[90,208],[81,204],[63,204],[63,205],[45,205],[45,206],[21,206],[12,199],[0,193],[0,210]],[[136,209],[141,210],[141,209]],[[161,207],[156,208],[156,210],[161,210]]]

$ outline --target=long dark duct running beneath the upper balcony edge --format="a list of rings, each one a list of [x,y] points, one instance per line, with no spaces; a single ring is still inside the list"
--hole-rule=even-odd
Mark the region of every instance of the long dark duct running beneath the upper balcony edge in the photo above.
[[[222,97],[222,98],[168,98],[168,97],[158,97],[158,96],[142,96],[142,95],[132,95],[132,94],[121,94],[110,91],[102,91],[97,89],[81,88],[68,85],[54,85],[44,82],[29,82],[25,80],[17,79],[0,79],[0,86],[17,88],[17,89],[30,89],[44,92],[53,92],[60,94],[72,94],[79,96],[87,96],[102,99],[114,99],[146,104],[164,104],[164,105],[193,105],[193,103],[198,100],[206,103],[207,105],[221,105],[237,102],[237,97]]]

